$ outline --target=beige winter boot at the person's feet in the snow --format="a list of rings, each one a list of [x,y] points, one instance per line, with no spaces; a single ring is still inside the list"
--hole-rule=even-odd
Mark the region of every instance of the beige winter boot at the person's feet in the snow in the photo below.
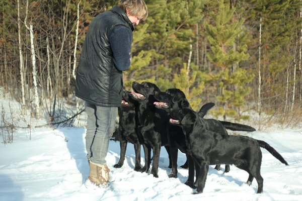
[[[89,180],[96,185],[107,184],[109,180],[110,169],[107,165],[100,165],[89,161]]]

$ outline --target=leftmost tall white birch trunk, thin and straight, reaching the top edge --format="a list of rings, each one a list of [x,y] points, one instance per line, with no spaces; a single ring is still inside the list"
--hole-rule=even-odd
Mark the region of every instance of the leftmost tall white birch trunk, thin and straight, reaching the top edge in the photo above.
[[[20,76],[21,76],[21,90],[22,90],[22,115],[25,115],[25,83],[24,83],[24,64],[23,64],[23,54],[22,54],[22,44],[21,44],[21,29],[20,29],[20,3],[18,2],[18,39],[19,39],[19,55],[20,55]]]

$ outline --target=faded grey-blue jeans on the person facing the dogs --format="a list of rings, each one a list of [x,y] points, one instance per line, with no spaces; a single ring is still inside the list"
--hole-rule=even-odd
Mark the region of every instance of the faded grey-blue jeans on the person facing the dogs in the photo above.
[[[115,131],[117,107],[100,107],[86,102],[87,158],[93,163],[106,164],[109,140]]]

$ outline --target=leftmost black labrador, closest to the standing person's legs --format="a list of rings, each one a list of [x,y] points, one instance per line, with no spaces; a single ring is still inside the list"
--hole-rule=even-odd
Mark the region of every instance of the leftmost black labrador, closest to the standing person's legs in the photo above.
[[[121,106],[118,107],[118,116],[119,116],[118,134],[120,136],[121,154],[118,163],[113,166],[115,168],[121,168],[123,166],[127,143],[130,142],[134,145],[134,150],[135,150],[134,170],[135,171],[141,170],[141,166],[140,166],[141,140],[139,140],[137,136],[137,124],[136,124],[137,108],[138,108],[138,102],[133,98],[131,98],[131,94],[129,91],[124,90]],[[144,168],[148,170],[150,164],[145,163],[145,165],[147,166]]]

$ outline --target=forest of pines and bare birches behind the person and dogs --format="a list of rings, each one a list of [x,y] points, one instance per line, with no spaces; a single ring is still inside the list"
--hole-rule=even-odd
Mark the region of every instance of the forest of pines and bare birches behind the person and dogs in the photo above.
[[[0,86],[21,103],[22,114],[30,109],[54,125],[85,110],[74,85],[86,32],[118,2],[0,0]],[[300,125],[302,0],[145,3],[126,90],[150,81],[162,91],[180,88],[196,111],[214,102],[215,118],[254,120],[258,129]]]

